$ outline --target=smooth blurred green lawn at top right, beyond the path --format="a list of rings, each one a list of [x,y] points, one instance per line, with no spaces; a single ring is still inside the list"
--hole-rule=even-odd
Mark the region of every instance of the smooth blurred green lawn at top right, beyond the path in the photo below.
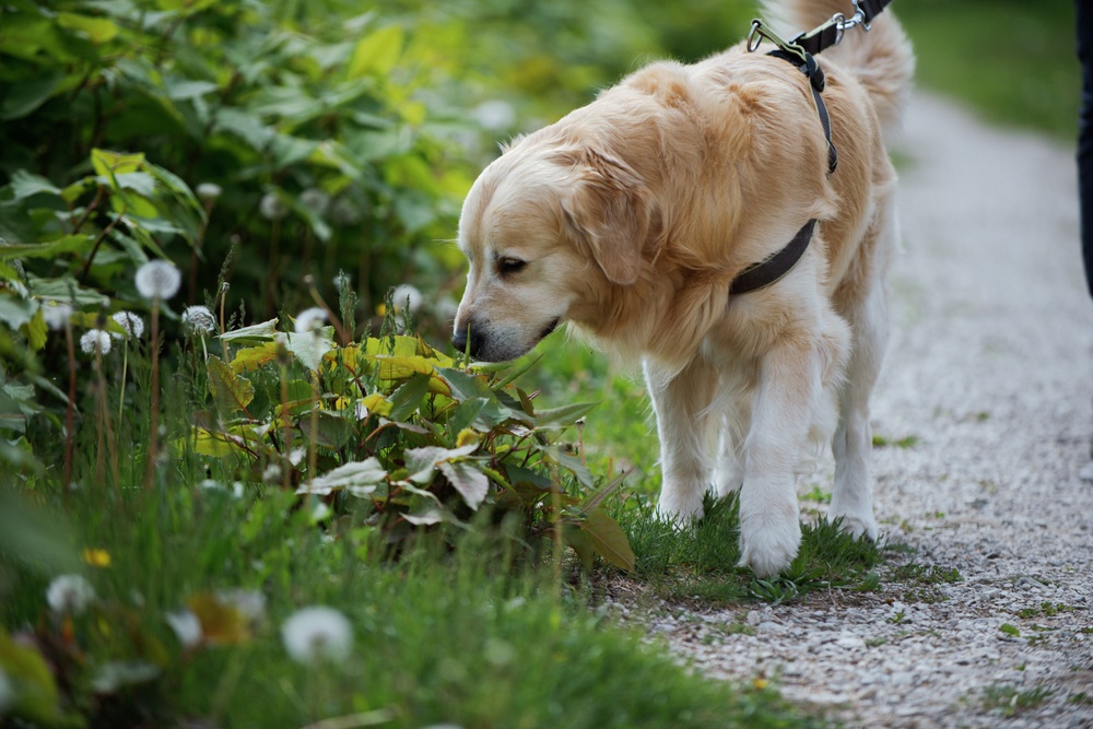
[[[1071,0],[916,0],[893,10],[915,44],[921,87],[990,121],[1076,139],[1081,74]]]

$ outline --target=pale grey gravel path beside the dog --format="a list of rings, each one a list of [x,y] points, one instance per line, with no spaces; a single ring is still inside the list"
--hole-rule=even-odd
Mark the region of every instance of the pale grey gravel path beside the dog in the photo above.
[[[902,445],[874,449],[873,474],[890,543],[914,551],[880,592],[647,620],[705,672],[769,679],[848,726],[1093,727],[1093,302],[1071,152],[929,96],[901,149],[873,428]]]

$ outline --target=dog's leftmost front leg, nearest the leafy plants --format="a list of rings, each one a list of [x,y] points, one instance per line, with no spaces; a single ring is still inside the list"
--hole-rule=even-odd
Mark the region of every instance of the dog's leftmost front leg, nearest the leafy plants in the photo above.
[[[709,485],[709,403],[717,372],[701,356],[678,374],[648,360],[643,368],[660,435],[663,483],[657,510],[679,525],[700,519],[702,495]]]

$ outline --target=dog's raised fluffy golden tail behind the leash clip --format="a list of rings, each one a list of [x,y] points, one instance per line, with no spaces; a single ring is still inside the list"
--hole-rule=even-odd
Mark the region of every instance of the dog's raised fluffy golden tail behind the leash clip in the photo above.
[[[764,20],[786,38],[811,31],[835,13],[854,14],[850,0],[763,0],[763,8]],[[848,28],[843,43],[823,51],[821,66],[824,59],[849,70],[866,87],[885,133],[898,128],[910,96],[915,55],[891,9],[873,19],[868,32]]]

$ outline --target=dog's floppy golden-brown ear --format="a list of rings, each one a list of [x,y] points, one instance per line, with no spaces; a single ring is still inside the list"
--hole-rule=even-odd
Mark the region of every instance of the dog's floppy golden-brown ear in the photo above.
[[[575,184],[562,198],[564,223],[584,240],[612,283],[630,285],[642,269],[649,235],[649,196],[642,178],[625,162],[583,150],[567,153]]]

